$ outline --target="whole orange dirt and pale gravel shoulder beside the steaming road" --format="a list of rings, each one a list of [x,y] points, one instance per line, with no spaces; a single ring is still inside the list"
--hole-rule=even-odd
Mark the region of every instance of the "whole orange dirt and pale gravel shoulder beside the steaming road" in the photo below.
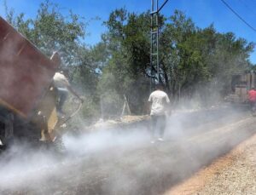
[[[165,195],[256,194],[255,143],[253,135]]]

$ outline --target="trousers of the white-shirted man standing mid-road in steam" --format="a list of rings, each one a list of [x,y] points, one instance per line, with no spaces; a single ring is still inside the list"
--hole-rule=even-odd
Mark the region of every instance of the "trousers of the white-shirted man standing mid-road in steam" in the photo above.
[[[166,129],[166,115],[151,115],[151,132],[152,138],[163,137]]]

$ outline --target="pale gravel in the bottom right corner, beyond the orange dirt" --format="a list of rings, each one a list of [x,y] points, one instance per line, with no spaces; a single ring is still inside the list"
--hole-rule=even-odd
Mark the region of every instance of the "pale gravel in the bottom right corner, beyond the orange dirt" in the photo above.
[[[194,194],[256,194],[256,135],[244,142],[232,155],[229,166],[212,175],[211,180]]]

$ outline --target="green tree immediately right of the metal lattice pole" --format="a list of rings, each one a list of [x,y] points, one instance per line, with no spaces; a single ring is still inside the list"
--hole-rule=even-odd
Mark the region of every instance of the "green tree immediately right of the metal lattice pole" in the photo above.
[[[160,38],[162,80],[172,95],[193,95],[214,85],[227,91],[230,77],[250,65],[253,43],[233,33],[216,32],[213,25],[200,29],[180,12],[166,21]],[[201,91],[200,91],[201,90]]]

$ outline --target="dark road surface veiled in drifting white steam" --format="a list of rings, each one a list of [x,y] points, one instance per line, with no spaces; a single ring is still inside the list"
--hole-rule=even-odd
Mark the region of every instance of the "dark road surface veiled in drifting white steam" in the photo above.
[[[247,111],[224,108],[173,115],[155,144],[138,126],[67,139],[61,156],[19,146],[0,160],[0,194],[163,194],[255,132]]]

